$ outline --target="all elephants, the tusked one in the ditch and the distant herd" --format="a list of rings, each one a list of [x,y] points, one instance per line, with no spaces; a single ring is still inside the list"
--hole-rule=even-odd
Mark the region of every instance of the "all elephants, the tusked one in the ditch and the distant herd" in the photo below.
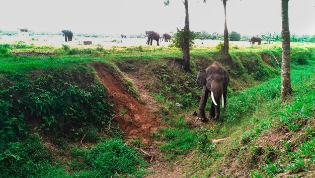
[[[71,30],[62,30],[65,41],[71,41],[73,33]],[[152,41],[156,40],[157,45],[159,46],[159,40],[161,40],[160,34],[154,31],[145,31],[147,35],[146,44],[152,45]],[[126,38],[126,35],[120,35],[121,38]],[[74,38],[75,39],[75,38]],[[162,40],[171,41],[171,35],[165,33],[163,34]],[[200,37],[200,40],[204,38]],[[252,37],[250,39],[251,44],[261,43],[261,38]],[[208,123],[209,120],[217,120],[220,116],[220,101],[222,101],[222,108],[226,108],[226,94],[227,94],[227,85],[229,83],[229,75],[227,70],[222,67],[219,63],[214,62],[210,67],[205,70],[199,71],[197,75],[198,82],[203,85],[202,95],[200,99],[200,104],[198,108],[197,119],[201,122]],[[208,95],[211,93],[211,109],[209,115],[205,115],[205,106],[208,100]]]

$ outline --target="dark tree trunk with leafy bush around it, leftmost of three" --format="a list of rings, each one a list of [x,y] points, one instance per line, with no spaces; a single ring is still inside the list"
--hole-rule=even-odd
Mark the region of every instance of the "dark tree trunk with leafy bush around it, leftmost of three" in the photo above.
[[[190,30],[189,30],[189,15],[188,15],[188,0],[185,0],[184,2],[185,5],[185,26],[183,29],[183,46],[182,46],[182,51],[183,51],[183,60],[184,60],[184,70],[186,72],[190,72],[190,54],[189,54],[189,35],[190,35]]]

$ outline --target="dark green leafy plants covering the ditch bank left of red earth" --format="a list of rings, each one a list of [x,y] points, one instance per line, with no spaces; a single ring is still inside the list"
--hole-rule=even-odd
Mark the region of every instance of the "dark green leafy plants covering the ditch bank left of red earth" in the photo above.
[[[80,81],[71,76],[75,73],[81,73]],[[0,103],[5,108],[0,126],[2,141],[23,135],[26,121],[38,120],[41,125],[37,129],[51,137],[74,140],[81,138],[90,125],[101,126],[109,121],[111,104],[106,100],[105,88],[89,68],[55,69],[31,76],[8,74],[7,79],[16,84],[0,91]]]

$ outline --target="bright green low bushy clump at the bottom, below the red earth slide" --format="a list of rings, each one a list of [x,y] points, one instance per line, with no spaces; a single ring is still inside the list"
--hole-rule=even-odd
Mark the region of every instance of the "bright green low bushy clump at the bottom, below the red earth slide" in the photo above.
[[[91,150],[74,150],[73,156],[70,165],[74,177],[116,177],[119,174],[142,177],[147,164],[121,139],[105,140]]]

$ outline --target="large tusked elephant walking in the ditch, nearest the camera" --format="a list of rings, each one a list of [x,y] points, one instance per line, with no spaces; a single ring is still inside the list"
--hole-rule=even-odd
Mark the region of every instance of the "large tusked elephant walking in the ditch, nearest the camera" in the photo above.
[[[202,96],[199,104],[197,118],[202,122],[208,122],[209,119],[218,119],[220,116],[220,98],[222,99],[222,108],[226,107],[227,85],[229,75],[227,70],[219,63],[214,62],[206,70],[198,72],[197,81],[203,84]],[[205,105],[208,100],[208,94],[211,93],[211,109],[209,116],[205,116]]]

